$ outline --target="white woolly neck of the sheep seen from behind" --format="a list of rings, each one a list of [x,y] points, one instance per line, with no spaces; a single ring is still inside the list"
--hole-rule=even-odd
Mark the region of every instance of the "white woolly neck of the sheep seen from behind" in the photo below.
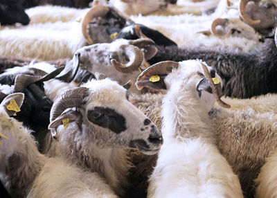
[[[189,141],[202,138],[215,143],[215,135],[211,133],[211,121],[202,110],[199,98],[186,86],[176,89],[174,84],[163,98],[161,115],[163,116],[163,137],[168,139]],[[197,96],[198,97],[198,96]],[[198,102],[197,102],[198,101]]]

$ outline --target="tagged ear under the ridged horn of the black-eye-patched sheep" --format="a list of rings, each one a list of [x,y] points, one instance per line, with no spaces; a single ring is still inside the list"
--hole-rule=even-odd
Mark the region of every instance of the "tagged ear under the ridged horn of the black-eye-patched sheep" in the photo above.
[[[71,122],[79,122],[82,120],[82,114],[76,108],[69,108],[64,110],[60,116],[55,118],[49,125],[48,129],[57,129],[60,125],[66,128]]]

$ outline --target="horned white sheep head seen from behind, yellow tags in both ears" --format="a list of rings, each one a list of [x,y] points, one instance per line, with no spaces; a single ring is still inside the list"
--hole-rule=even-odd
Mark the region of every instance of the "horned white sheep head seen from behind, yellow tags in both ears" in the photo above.
[[[215,81],[215,82],[214,82]],[[136,80],[138,89],[152,87],[154,89],[184,89],[194,91],[192,97],[205,103],[207,110],[211,110],[215,100],[222,107],[230,108],[220,99],[222,80],[215,70],[198,60],[183,62],[164,61],[153,64],[145,69]],[[181,89],[181,88],[180,88]]]

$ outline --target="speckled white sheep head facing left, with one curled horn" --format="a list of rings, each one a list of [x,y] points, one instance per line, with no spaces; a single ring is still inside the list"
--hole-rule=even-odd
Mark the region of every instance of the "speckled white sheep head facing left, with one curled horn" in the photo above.
[[[85,46],[75,52],[75,55],[80,55],[80,68],[87,69],[91,73],[104,73],[112,80],[116,80],[120,84],[124,84],[129,79],[135,80],[139,75],[139,66],[147,67],[144,53],[138,47],[129,44],[125,39],[117,39],[111,44],[93,44],[91,46]],[[150,52],[152,53],[152,52]],[[157,53],[155,51],[154,53]],[[128,62],[136,61],[139,59],[139,63],[134,66],[135,70],[123,73],[124,71],[118,71],[111,60],[127,64]]]

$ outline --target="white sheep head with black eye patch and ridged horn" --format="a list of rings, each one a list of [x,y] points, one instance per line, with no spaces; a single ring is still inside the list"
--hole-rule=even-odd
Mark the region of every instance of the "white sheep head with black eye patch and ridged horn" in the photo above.
[[[136,148],[155,154],[163,143],[157,126],[127,100],[126,89],[109,78],[65,91],[51,109],[49,129],[61,141],[78,134],[86,147]]]

